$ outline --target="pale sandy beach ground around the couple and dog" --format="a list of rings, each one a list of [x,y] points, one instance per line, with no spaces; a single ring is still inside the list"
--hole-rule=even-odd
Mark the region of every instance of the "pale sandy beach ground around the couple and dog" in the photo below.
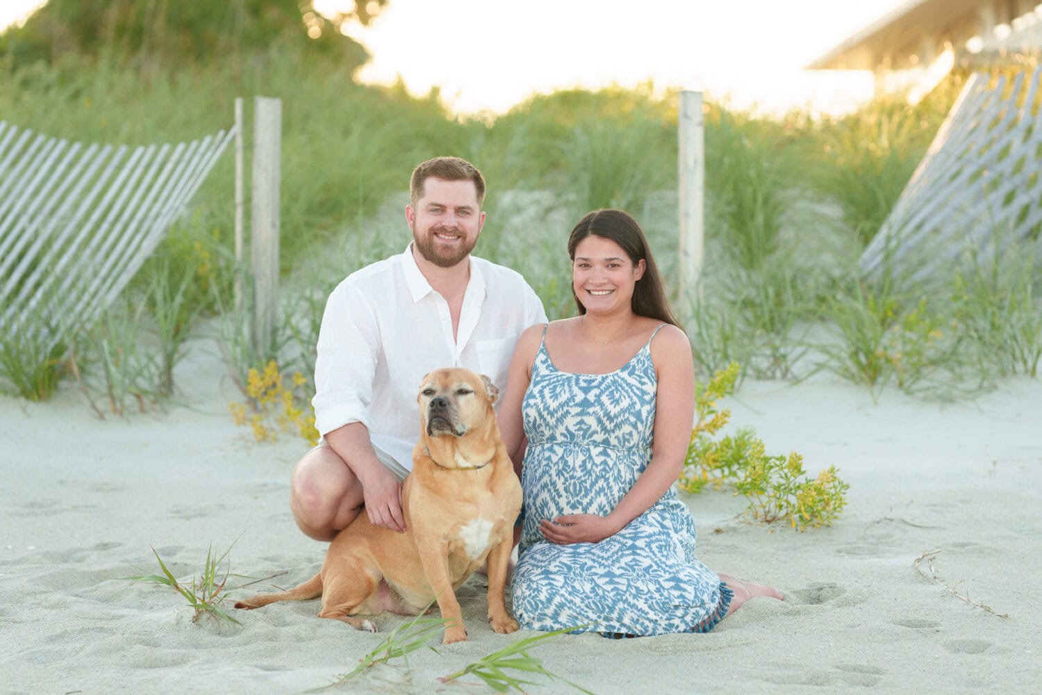
[[[198,572],[207,547],[231,571],[293,586],[324,544],[294,525],[289,474],[305,449],[255,444],[237,428],[223,366],[194,350],[180,403],[98,419],[74,389],[48,403],[0,397],[0,692],[298,693],[349,671],[380,635],[318,620],[318,602],[191,621],[183,599],[120,577]],[[939,405],[896,390],[872,402],[821,376],[799,386],[746,381],[725,401],[768,452],[798,450],[850,483],[832,528],[804,533],[737,518],[726,492],[685,497],[711,568],[778,587],[709,635],[612,641],[565,636],[532,651],[595,693],[1039,692],[1042,610],[1042,382],[1015,379]],[[238,541],[237,541],[238,539]],[[954,591],[1008,618],[960,600]],[[437,678],[508,644],[485,622],[483,577],[461,591],[471,640],[378,666],[353,692],[491,692]],[[232,578],[229,584],[249,579]],[[237,594],[232,594],[234,597]],[[229,604],[230,605],[230,604]],[[384,631],[403,622],[384,615]],[[529,692],[575,692],[543,681]]]

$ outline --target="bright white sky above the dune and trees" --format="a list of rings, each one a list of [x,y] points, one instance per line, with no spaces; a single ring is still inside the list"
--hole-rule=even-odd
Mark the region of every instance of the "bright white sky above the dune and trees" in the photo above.
[[[352,0],[316,0],[319,9]],[[908,0],[390,0],[351,35],[364,81],[440,85],[463,113],[499,113],[569,86],[702,90],[740,107],[824,110],[870,96],[866,73],[802,67]],[[39,0],[0,0],[6,26]]]

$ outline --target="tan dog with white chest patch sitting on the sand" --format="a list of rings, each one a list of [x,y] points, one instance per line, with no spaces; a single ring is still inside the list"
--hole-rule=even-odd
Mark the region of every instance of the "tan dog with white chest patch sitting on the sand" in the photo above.
[[[447,619],[443,644],[467,639],[455,590],[482,563],[489,572],[489,622],[513,632],[503,590],[521,510],[521,485],[503,447],[492,404],[499,390],[487,376],[440,369],[423,378],[420,443],[402,483],[407,530],[374,526],[359,514],[329,545],[322,570],[279,594],[254,596],[237,609],[322,597],[320,618],[376,631],[359,615],[406,615],[435,598]]]

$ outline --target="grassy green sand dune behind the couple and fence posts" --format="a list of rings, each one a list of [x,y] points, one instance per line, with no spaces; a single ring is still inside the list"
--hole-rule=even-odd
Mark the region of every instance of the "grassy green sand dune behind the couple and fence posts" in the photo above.
[[[857,268],[962,79],[915,107],[880,100],[842,118],[768,119],[708,102],[703,278],[698,292],[674,296],[700,375],[736,359],[756,378],[826,370],[873,394],[894,386],[920,395],[946,379],[971,394],[1004,375],[1037,375],[1039,286],[1026,266],[969,264],[958,277],[899,292]],[[185,338],[214,316],[214,338],[244,392],[249,369],[270,359],[313,380],[325,296],[348,273],[405,247],[408,173],[440,154],[482,169],[488,222],[475,252],[521,272],[551,319],[574,312],[565,242],[593,207],[637,216],[675,292],[675,95],[651,85],[566,90],[497,118],[457,119],[437,94],[358,85],[345,67],[293,53],[168,71],[106,58],[17,72],[0,64],[0,118],[79,141],[199,138],[228,127],[233,97],[251,94],[283,100],[278,339],[258,352],[246,330],[248,287],[244,302],[233,298],[246,271],[229,250],[226,154],[127,289],[128,297],[151,297],[141,332],[158,346],[159,380],[149,387],[156,394],[175,390]],[[0,345],[0,388],[47,398],[65,353],[31,348],[23,338]],[[93,378],[85,372],[104,364],[79,367]]]

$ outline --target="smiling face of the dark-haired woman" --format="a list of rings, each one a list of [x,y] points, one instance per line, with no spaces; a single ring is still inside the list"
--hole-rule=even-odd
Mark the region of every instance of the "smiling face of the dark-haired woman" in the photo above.
[[[572,289],[588,313],[628,307],[634,286],[644,275],[644,268],[643,258],[635,266],[621,246],[611,239],[591,234],[575,247]]]

